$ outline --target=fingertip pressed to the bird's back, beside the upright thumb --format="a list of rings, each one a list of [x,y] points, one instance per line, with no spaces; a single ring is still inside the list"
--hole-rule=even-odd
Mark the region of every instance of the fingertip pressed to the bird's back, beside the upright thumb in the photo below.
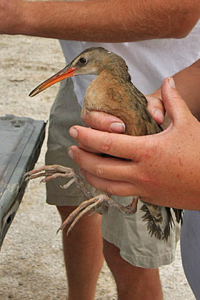
[[[158,124],[162,124],[164,122],[164,114],[165,114],[163,101],[151,95],[146,96],[146,99],[148,102],[147,108],[149,110],[149,113]]]

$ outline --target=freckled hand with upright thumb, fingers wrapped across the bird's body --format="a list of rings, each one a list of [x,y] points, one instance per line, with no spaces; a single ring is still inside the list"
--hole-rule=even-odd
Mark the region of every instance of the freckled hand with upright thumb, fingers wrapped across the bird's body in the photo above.
[[[124,161],[101,157],[71,146],[69,155],[81,174],[97,189],[119,196],[139,195],[161,206],[199,209],[200,125],[174,89],[171,79],[162,85],[162,99],[171,124],[151,136],[126,136],[73,126],[79,144]]]

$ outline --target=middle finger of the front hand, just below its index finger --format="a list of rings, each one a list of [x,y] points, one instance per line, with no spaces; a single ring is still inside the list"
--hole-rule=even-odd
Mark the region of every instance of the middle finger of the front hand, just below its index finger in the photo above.
[[[134,174],[139,176],[133,161],[124,161],[114,157],[102,157],[86,152],[77,146],[71,146],[68,153],[76,164],[81,166],[81,169],[97,177],[119,181],[131,181],[134,178]],[[131,171],[129,171],[130,168]]]

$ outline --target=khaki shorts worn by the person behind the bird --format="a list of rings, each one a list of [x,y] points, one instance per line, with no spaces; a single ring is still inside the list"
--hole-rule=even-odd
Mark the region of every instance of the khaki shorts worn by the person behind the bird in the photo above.
[[[51,108],[49,119],[48,151],[46,152],[46,164],[61,164],[71,166],[78,170],[74,161],[69,158],[67,149],[75,144],[69,136],[69,128],[74,124],[81,124],[81,107],[74,94],[74,86],[71,79],[61,81],[61,87]],[[73,184],[69,189],[61,189],[60,185],[66,184],[66,179],[56,179],[46,184],[46,201],[56,206],[76,206],[84,201],[81,191]],[[99,194],[93,187],[91,192]],[[112,198],[121,204],[130,204],[132,197]],[[123,216],[114,209],[102,218],[102,235],[106,241],[120,249],[123,259],[134,266],[144,268],[158,268],[174,261],[176,242],[179,239],[179,226],[171,230],[169,241],[158,241],[149,236],[146,224],[141,221],[144,212],[138,211],[131,216]]]

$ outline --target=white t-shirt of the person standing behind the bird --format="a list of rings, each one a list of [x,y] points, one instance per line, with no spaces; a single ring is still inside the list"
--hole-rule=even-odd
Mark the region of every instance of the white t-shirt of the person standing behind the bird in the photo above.
[[[200,58],[200,21],[184,39],[154,39],[113,44],[61,40],[60,44],[66,64],[91,46],[102,46],[119,54],[129,66],[135,86],[144,94],[150,94],[161,85],[166,76],[174,75]],[[73,78],[79,104],[83,104],[86,88],[93,78],[91,75]]]

